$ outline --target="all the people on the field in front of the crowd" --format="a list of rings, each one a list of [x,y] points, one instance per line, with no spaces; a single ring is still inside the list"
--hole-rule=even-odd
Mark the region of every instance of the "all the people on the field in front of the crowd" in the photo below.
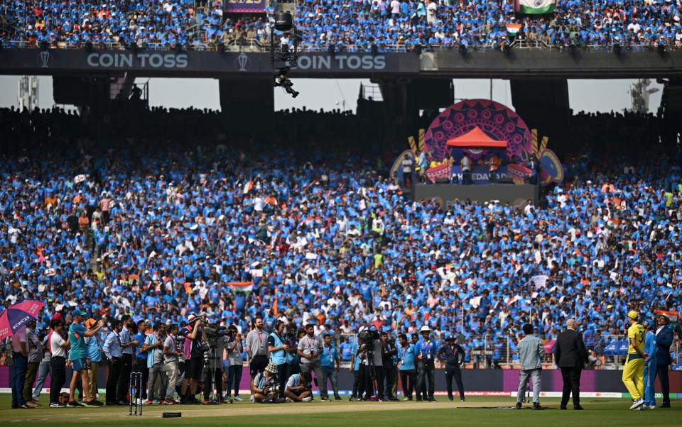
[[[654,381],[659,377],[663,392],[660,408],[670,407],[668,370],[671,364],[670,346],[673,329],[669,318],[659,315],[656,320],[641,319],[637,311],[628,313],[628,351],[622,374],[623,383],[632,397],[630,409],[654,409]],[[210,338],[202,316],[190,314],[182,327],[156,323],[148,333],[146,321],[134,323],[130,316],[110,321],[110,330],[102,339],[104,321],[85,319],[85,313],[75,309],[66,328],[60,314],[56,314],[43,342],[36,337],[35,321],[12,338],[14,376],[12,379],[12,407],[30,409],[38,406],[40,391],[51,373],[50,406],[102,406],[97,401],[99,367],[109,366],[106,403],[109,406],[127,405],[129,375],[143,374],[140,399],[147,404],[196,404],[196,394],[203,392],[204,403],[214,392],[215,402],[227,397],[240,401],[239,382],[242,372],[242,336],[236,326],[227,333]],[[254,328],[246,336],[246,350],[251,374],[251,400],[278,403],[310,401],[312,384],[320,391],[320,400],[329,401],[328,384],[334,399],[340,400],[337,372],[340,354],[332,337],[315,335],[314,326],[296,329],[276,321],[274,331],[264,330],[262,318],[256,317]],[[580,406],[580,374],[588,362],[588,353],[577,322],[569,319],[566,329],[556,340],[556,365],[561,369],[563,394],[561,409],[567,409],[573,396],[573,409]],[[295,333],[285,333],[286,330]],[[524,338],[519,341],[520,381],[516,408],[521,409],[529,383],[533,384],[533,409],[540,405],[540,377],[545,355],[542,341],[534,336],[534,327],[523,326]],[[464,387],[460,366],[465,350],[450,336],[439,346],[431,339],[431,329],[423,326],[419,333],[392,336],[377,331],[375,326],[361,328],[364,339],[352,347],[350,372],[354,384],[352,401],[397,401],[398,379],[405,401],[434,401],[435,360],[445,367],[448,398],[453,400],[453,380],[460,400],[464,401]],[[209,345],[210,344],[210,345]],[[62,394],[66,367],[72,370],[69,393]],[[210,369],[205,369],[209,367]],[[224,370],[224,367],[227,367]],[[313,377],[314,373],[314,377]],[[33,382],[36,387],[32,391]],[[226,381],[224,381],[226,379]],[[225,387],[223,387],[225,382]],[[82,403],[75,399],[79,391]],[[175,400],[178,393],[180,401]]]

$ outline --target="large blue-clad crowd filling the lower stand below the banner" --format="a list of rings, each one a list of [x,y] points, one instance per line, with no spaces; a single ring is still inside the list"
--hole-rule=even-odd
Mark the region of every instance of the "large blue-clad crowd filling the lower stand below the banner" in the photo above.
[[[145,120],[218,126],[215,114]],[[0,110],[0,311],[46,301],[38,330],[79,306],[172,323],[204,312],[244,332],[257,315],[269,331],[278,318],[318,333],[426,324],[467,351],[484,338],[502,351],[523,323],[549,339],[575,316],[593,347],[623,333],[629,310],[682,311],[679,148],[588,149],[540,206],[442,211],[404,199],[372,156],[296,139],[153,140],[132,123],[116,142],[76,133],[89,129],[60,109]]]

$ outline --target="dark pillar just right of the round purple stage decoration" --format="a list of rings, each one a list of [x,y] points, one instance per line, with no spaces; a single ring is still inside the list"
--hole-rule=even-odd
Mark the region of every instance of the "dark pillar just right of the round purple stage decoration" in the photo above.
[[[565,152],[570,144],[570,106],[566,79],[511,80],[511,102],[516,113],[539,136],[548,136],[552,150]]]

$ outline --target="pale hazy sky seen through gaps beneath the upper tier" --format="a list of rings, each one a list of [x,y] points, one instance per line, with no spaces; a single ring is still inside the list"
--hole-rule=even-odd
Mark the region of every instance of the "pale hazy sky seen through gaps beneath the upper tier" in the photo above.
[[[17,104],[18,76],[0,76],[0,106]],[[146,82],[148,79],[138,79]],[[359,85],[371,84],[369,79],[293,79],[298,98],[275,90],[276,109],[305,106],[308,109],[355,109]],[[634,80],[568,80],[570,107],[573,111],[610,111],[629,108],[628,89]],[[649,109],[656,111],[661,103],[661,84],[651,95]],[[489,98],[488,79],[455,80],[455,98]],[[52,78],[40,77],[40,107],[53,106]],[[511,93],[507,80],[493,80],[492,97],[511,107]],[[149,79],[149,101],[153,106],[220,109],[218,81],[215,79]]]

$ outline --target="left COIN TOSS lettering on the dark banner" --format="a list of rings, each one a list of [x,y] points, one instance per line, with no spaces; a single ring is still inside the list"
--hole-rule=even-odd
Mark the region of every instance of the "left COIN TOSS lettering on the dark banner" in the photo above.
[[[188,56],[175,52],[92,52],[87,55],[87,65],[92,68],[182,69],[188,65]]]

